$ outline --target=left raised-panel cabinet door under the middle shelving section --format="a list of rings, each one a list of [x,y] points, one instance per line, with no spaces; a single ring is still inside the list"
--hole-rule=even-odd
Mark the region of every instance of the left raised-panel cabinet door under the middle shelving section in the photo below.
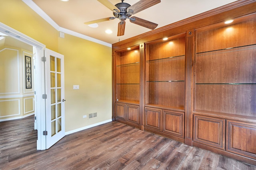
[[[162,109],[145,107],[145,127],[162,131]]]

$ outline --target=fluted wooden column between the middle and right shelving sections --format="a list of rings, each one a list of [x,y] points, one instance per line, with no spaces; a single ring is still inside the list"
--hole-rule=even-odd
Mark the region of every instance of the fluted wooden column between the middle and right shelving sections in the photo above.
[[[190,29],[186,34],[186,102],[185,102],[185,144],[192,146],[192,125],[193,125],[193,58],[194,58],[194,29]]]

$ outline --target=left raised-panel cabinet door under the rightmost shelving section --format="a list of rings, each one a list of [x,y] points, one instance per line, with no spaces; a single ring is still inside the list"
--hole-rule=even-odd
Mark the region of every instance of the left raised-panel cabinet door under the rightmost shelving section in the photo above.
[[[194,142],[225,150],[225,119],[194,115]]]

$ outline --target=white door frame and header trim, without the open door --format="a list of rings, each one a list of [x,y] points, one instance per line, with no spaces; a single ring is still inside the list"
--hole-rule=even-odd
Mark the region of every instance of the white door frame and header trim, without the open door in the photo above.
[[[46,119],[45,119],[45,113],[46,113],[46,105],[45,100],[42,99],[42,95],[46,94],[45,89],[45,83],[44,83],[44,62],[41,61],[41,58],[44,56],[44,49],[45,45],[28,37],[27,35],[24,35],[23,33],[20,33],[19,31],[16,31],[15,29],[5,25],[4,23],[0,22],[0,32],[9,35],[10,37],[13,37],[15,39],[18,39],[24,43],[27,43],[28,45],[32,45],[34,48],[34,55],[36,56],[36,64],[35,64],[35,72],[36,77],[34,77],[35,82],[35,88],[34,91],[36,92],[36,113],[37,113],[37,149],[38,150],[44,150],[46,149],[46,136],[43,135],[43,131],[46,129]]]

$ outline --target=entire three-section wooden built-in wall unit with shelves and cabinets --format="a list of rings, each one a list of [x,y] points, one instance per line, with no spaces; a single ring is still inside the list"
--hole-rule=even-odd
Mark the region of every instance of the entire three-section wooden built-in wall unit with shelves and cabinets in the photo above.
[[[255,25],[241,0],[113,44],[114,119],[256,165]]]

